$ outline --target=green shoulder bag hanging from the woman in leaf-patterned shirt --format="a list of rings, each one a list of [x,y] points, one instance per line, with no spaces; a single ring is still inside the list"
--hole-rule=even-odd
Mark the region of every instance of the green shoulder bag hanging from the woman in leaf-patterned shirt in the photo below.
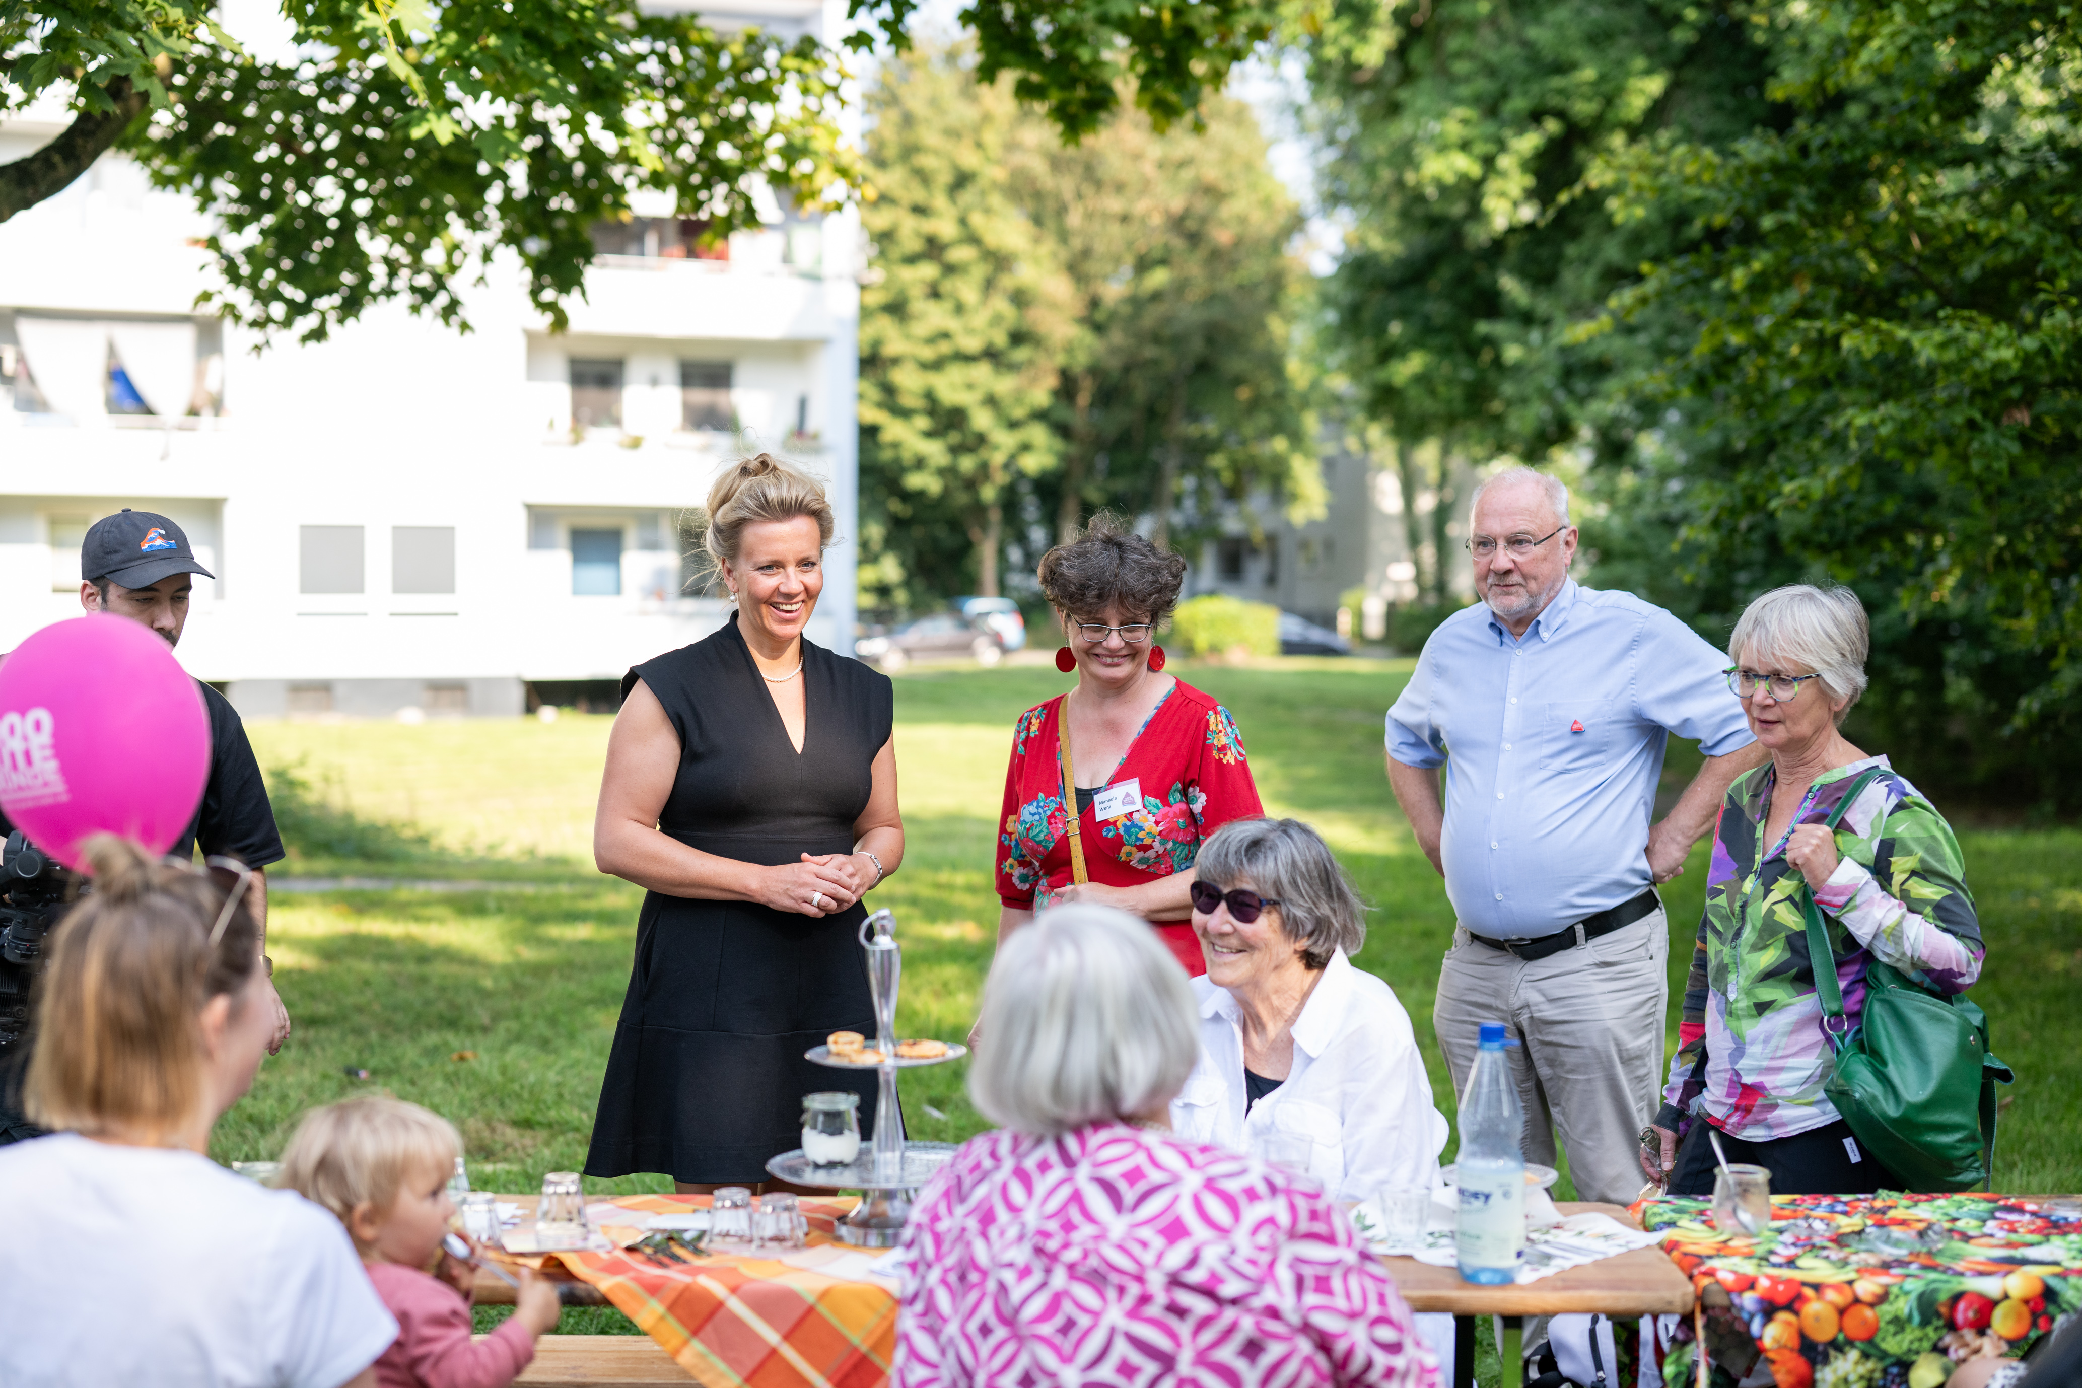
[[[1828,816],[1843,812],[1884,776],[1859,776]],[[1988,1053],[1988,1018],[1965,995],[1943,997],[1878,959],[1865,966],[1865,1009],[1857,1026],[1843,1016],[1836,955],[1822,907],[1807,893],[1807,959],[1822,1001],[1836,1072],[1828,1101],[1851,1124],[1859,1147],[1886,1163],[1909,1190],[1972,1190],[1995,1172],[1995,1084],[2009,1065]]]

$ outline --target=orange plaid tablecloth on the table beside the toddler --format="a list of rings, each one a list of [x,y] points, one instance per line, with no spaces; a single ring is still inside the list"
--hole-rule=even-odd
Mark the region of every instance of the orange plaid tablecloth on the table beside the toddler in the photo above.
[[[593,1205],[637,1215],[706,1209],[706,1194],[625,1194]],[[810,1246],[770,1257],[714,1255],[658,1267],[627,1253],[550,1253],[591,1282],[643,1334],[710,1388],[879,1388],[897,1348],[897,1299],[860,1276],[864,1257],[833,1238],[852,1199],[802,1201]],[[610,1238],[612,1219],[606,1222]],[[535,1261],[535,1259],[529,1259]],[[829,1276],[818,1265],[845,1265]]]

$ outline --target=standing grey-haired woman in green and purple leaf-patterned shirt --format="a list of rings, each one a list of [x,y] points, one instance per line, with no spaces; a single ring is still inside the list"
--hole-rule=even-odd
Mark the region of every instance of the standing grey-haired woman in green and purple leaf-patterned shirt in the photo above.
[[[1643,1169],[1668,1174],[1672,1194],[1711,1194],[1707,1124],[1724,1134],[1728,1161],[1770,1167],[1778,1194],[1901,1188],[1822,1093],[1834,1061],[1807,953],[1807,893],[1828,926],[1847,1026],[1863,1009],[1872,959],[1938,993],[1963,993],[1980,976],[1980,922],[1951,824],[1884,755],[1838,730],[1865,691],[1865,649],[1857,595],[1807,585],[1749,603],[1728,641],[1728,685],[1772,762],[1722,803],[1684,1045],[1643,1134]],[[1882,774],[1830,832],[1830,812],[1872,768]]]

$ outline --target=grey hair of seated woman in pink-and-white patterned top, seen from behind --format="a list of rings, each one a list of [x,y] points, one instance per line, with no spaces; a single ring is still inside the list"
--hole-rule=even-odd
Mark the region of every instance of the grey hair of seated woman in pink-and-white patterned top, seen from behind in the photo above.
[[[999,945],[968,1097],[995,1124],[1058,1136],[1164,1107],[1199,1059],[1193,986],[1147,922],[1064,905]]]

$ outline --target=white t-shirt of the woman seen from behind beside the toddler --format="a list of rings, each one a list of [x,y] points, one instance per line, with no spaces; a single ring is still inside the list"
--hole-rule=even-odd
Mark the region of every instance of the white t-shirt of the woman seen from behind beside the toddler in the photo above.
[[[208,1157],[0,1147],[0,1384],[339,1388],[398,1338],[348,1232]]]

